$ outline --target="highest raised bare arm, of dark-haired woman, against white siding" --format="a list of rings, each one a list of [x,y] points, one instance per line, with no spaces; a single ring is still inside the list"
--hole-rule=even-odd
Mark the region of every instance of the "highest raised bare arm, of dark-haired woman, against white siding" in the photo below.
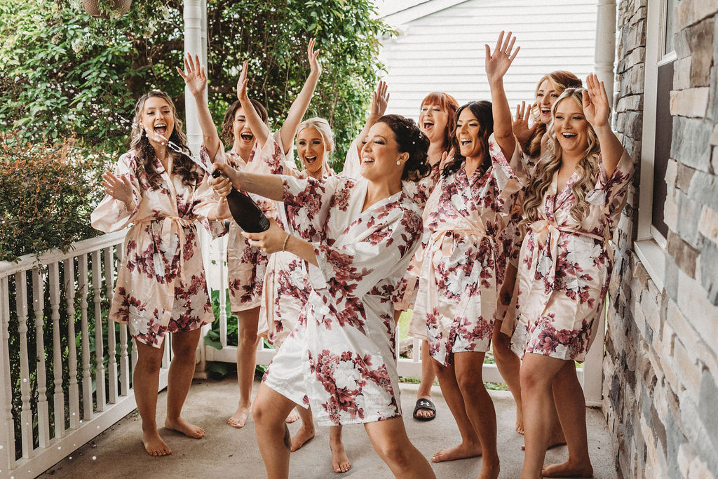
[[[503,75],[508,71],[511,62],[516,58],[518,50],[511,54],[513,44],[516,37],[511,36],[508,32],[506,39],[503,38],[504,32],[501,32],[496,42],[493,54],[488,45],[484,45],[486,49],[486,76],[491,88],[491,101],[493,103],[493,120],[494,120],[494,139],[498,143],[504,157],[510,159],[513,151],[516,149],[516,137],[513,136],[513,119],[511,118],[511,109],[508,106],[506,92],[503,89]]]

